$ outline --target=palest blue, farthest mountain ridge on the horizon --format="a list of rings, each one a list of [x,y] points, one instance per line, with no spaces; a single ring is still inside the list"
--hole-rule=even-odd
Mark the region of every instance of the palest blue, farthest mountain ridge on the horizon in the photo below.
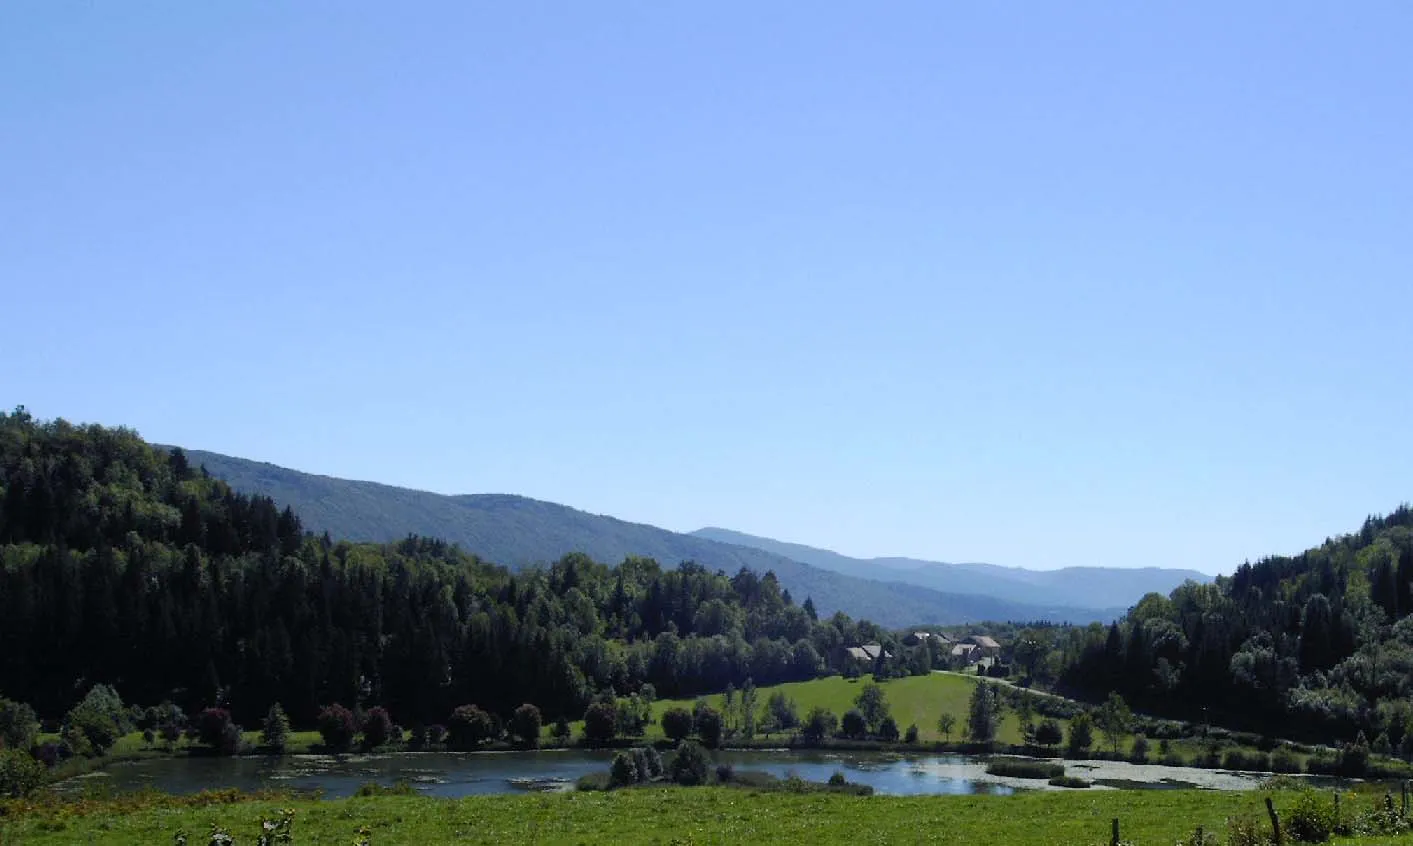
[[[945,564],[916,558],[849,558],[831,549],[788,544],[728,528],[708,527],[691,534],[722,544],[752,547],[861,579],[900,580],[934,590],[1005,596],[1023,603],[1128,607],[1146,593],[1167,596],[1187,580],[1211,582],[1211,576],[1190,569],[1067,566],[1030,571],[995,564]]]

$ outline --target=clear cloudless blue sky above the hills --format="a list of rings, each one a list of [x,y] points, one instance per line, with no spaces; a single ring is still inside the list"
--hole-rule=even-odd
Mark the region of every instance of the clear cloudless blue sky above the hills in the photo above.
[[[851,555],[1413,499],[1413,4],[0,4],[0,403]]]

